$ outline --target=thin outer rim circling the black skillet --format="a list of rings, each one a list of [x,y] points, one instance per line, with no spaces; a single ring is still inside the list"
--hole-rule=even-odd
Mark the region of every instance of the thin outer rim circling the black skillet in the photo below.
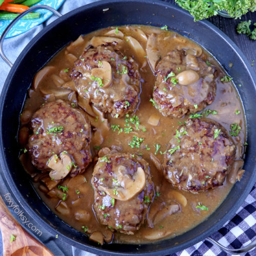
[[[65,15],[63,15],[62,17],[54,20],[54,22],[52,22],[50,25],[48,25],[44,30],[42,30],[41,32],[39,32],[30,42],[29,44],[25,47],[25,49],[22,51],[22,53],[20,53],[20,55],[18,56],[18,58],[16,59],[11,71],[9,72],[8,74],[8,77],[6,79],[6,82],[5,82],[5,85],[4,85],[4,88],[3,88],[3,91],[1,93],[1,97],[0,97],[0,141],[1,141],[1,152],[0,152],[0,157],[2,159],[1,161],[1,164],[2,164],[2,167],[3,167],[3,170],[8,170],[9,167],[7,166],[7,162],[6,162],[6,159],[3,157],[4,156],[4,148],[3,148],[3,138],[2,138],[2,113],[4,111],[4,100],[5,100],[5,95],[7,93],[7,90],[9,89],[8,87],[8,83],[12,80],[12,77],[13,77],[13,74],[16,72],[16,70],[18,69],[19,67],[19,59],[22,59],[23,56],[26,55],[26,52],[34,45],[34,43],[36,41],[38,41],[41,37],[43,37],[46,33],[48,33],[54,26],[58,25],[59,23],[61,23],[63,20],[65,20],[66,18],[70,17],[70,16],[73,16],[75,15],[76,13],[80,13],[82,11],[85,11],[85,10],[89,10],[91,8],[95,8],[95,7],[99,7],[99,6],[103,6],[105,4],[125,4],[125,3],[139,3],[139,4],[157,4],[159,6],[161,6],[162,8],[169,8],[170,10],[172,9],[175,9],[175,10],[178,10],[179,12],[182,12],[183,15],[186,15],[186,16],[189,16],[191,18],[191,16],[188,14],[187,11],[183,10],[182,8],[180,7],[177,7],[177,6],[174,6],[170,3],[165,3],[165,2],[162,2],[162,1],[150,1],[150,0],[143,0],[143,1],[139,1],[139,0],[132,0],[132,1],[120,1],[120,0],[111,0],[111,1],[108,1],[108,0],[104,0],[104,1],[99,1],[99,2],[94,2],[92,4],[89,4],[89,5],[86,5],[86,6],[83,6],[83,7],[80,7],[80,8],[77,8]],[[101,7],[102,8],[102,7]],[[214,31],[216,32],[222,40],[225,41],[225,44],[229,46],[229,48],[231,48],[234,52],[236,52],[237,56],[240,58],[241,62],[243,63],[245,69],[247,69],[247,72],[248,72],[248,75],[250,76],[250,79],[252,80],[252,84],[254,83],[254,81],[256,80],[255,79],[255,76],[256,75],[253,75],[254,74],[254,71],[252,70],[252,68],[250,67],[250,64],[249,64],[249,61],[246,59],[246,57],[243,55],[243,53],[241,52],[241,50],[231,41],[231,39],[229,37],[227,37],[221,30],[219,30],[217,27],[215,27],[214,25],[212,25],[211,23],[209,23],[208,21],[204,20],[204,21],[200,21],[200,22],[197,22],[201,25],[204,25],[208,30],[211,30],[211,31]],[[137,23],[138,24],[138,23]],[[210,52],[211,53],[211,52]],[[254,85],[254,91],[255,91],[255,83],[253,84]],[[247,170],[247,172],[249,172],[249,170]],[[8,185],[9,187],[12,187],[12,192],[14,190],[14,198],[20,202],[22,201],[23,202],[23,207],[26,209],[26,211],[28,212],[28,215],[30,217],[32,217],[33,219],[37,220],[38,221],[38,224],[41,225],[41,226],[49,226],[48,223],[46,223],[44,220],[42,220],[34,210],[31,209],[31,207],[27,204],[26,202],[26,198],[25,196],[23,196],[22,194],[18,193],[18,189],[15,187],[15,183],[14,181],[12,180],[12,177],[11,177],[11,174],[10,172],[4,172],[4,176],[8,182]],[[8,179],[9,178],[9,179]],[[150,252],[147,252],[146,255],[151,255],[151,254],[155,254],[156,252],[161,252],[161,253],[170,253],[170,252],[174,252],[174,251],[179,251],[179,250],[182,250],[184,248],[187,248],[189,247],[190,245],[194,245],[195,243],[203,240],[204,238],[208,237],[209,234],[211,234],[212,232],[218,230],[219,227],[221,227],[227,220],[229,220],[229,216],[230,216],[230,212],[231,214],[234,214],[234,212],[239,208],[239,206],[242,204],[242,202],[245,200],[246,196],[249,194],[249,191],[251,189],[251,187],[254,185],[254,181],[256,180],[256,172],[254,172],[254,177],[252,176],[252,179],[250,180],[249,184],[247,183],[247,187],[246,189],[243,191],[243,197],[240,198],[230,209],[229,209],[229,212],[228,214],[226,213],[222,219],[216,223],[215,225],[213,225],[211,228],[209,228],[208,230],[206,230],[205,232],[199,234],[199,236],[193,238],[193,239],[190,239],[188,241],[186,241],[185,243],[183,244],[180,244],[180,245],[177,245],[175,247],[172,247],[172,248],[167,248],[167,249],[163,249],[163,250],[156,250],[156,251],[150,251]],[[6,184],[7,185],[7,184]],[[234,187],[234,186],[233,186]],[[233,188],[232,188],[233,189]],[[231,190],[232,191],[232,190]],[[20,194],[20,195],[19,195]],[[242,199],[242,200],[241,200]],[[225,202],[226,199],[223,201]],[[222,204],[221,204],[222,205]],[[219,206],[220,207],[220,206]],[[219,208],[218,207],[218,208]],[[218,210],[218,208],[216,209],[216,211]],[[216,212],[215,211],[215,212]],[[209,217],[211,217],[212,215],[210,215]],[[209,218],[208,217],[208,218]],[[39,219],[39,220],[38,220]],[[207,219],[206,219],[207,221]],[[204,221],[205,222],[205,221]],[[201,225],[201,224],[199,224]],[[199,226],[198,225],[198,226]],[[25,227],[26,228],[26,227]],[[26,228],[27,229],[27,228]],[[56,233],[56,231],[51,227],[50,229],[50,232],[52,234]],[[28,230],[28,229],[27,229]],[[191,230],[194,230],[191,229]],[[189,231],[191,231],[189,230]],[[30,232],[30,230],[28,230]],[[188,231],[188,232],[189,232]],[[182,236],[182,235],[181,235]],[[63,240],[66,240],[66,242],[68,242],[69,244],[72,244],[72,245],[75,245],[76,247],[78,248],[81,248],[81,249],[84,249],[84,247],[86,247],[87,251],[90,251],[90,252],[93,252],[93,253],[99,253],[99,254],[102,254],[103,253],[106,253],[106,254],[109,254],[111,253],[112,255],[114,254],[119,254],[119,252],[116,252],[116,251],[112,251],[112,250],[106,250],[105,248],[101,248],[99,249],[98,247],[96,246],[91,246],[91,245],[84,245],[84,244],[81,244],[79,243],[78,241],[73,241],[71,240],[70,238],[68,237],[64,237],[63,236]],[[172,239],[169,239],[169,240],[162,240],[161,242],[166,242],[166,241],[172,241]],[[158,243],[158,242],[156,242]],[[77,244],[79,246],[77,246]],[[185,244],[185,246],[184,246]],[[173,250],[174,248],[176,248],[175,250]],[[173,251],[172,251],[173,250]],[[130,254],[133,254],[132,252],[122,252],[122,254],[124,255],[130,255]],[[145,254],[145,253],[136,253],[136,254]]]

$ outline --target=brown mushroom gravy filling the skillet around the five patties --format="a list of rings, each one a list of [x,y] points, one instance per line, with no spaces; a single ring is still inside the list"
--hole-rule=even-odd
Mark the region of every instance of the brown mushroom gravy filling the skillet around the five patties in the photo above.
[[[27,126],[30,118],[32,114],[40,108],[41,104],[45,103],[46,101],[54,101],[58,98],[70,100],[71,102],[77,104],[77,97],[72,90],[67,88],[60,89],[60,86],[62,86],[63,83],[69,82],[68,75],[66,76],[66,72],[63,73],[63,71],[72,69],[74,60],[79,58],[84,50],[84,47],[88,44],[88,41],[93,36],[104,35],[106,32],[115,29],[116,28],[114,27],[102,29],[80,37],[80,39],[75,41],[75,43],[72,43],[68,47],[62,49],[49,61],[46,67],[54,68],[50,68],[46,74],[41,74],[41,77],[37,79],[40,79],[39,82],[37,81],[38,84],[35,84],[34,81],[32,88],[28,91],[28,97],[26,99],[22,115],[20,116],[21,124],[19,142],[23,147],[27,143],[29,133]],[[122,31],[122,33],[126,36],[136,38],[140,42],[144,51],[146,47],[146,40],[139,33],[140,30],[142,30],[147,37],[151,33],[163,32],[163,30],[160,28],[149,26],[123,26],[118,27],[118,30]],[[168,50],[170,50],[170,48],[172,48],[172,50],[174,50],[177,49],[177,47],[181,47],[181,45],[196,45],[189,39],[172,31],[166,33],[174,35],[177,39],[172,42],[172,45],[168,43],[168,46],[166,46],[167,42],[163,42],[162,49],[168,48]],[[198,46],[196,45],[196,47]],[[131,51],[131,49],[127,46],[123,47],[122,51],[124,55],[132,56],[135,61],[141,63],[141,56],[136,55],[135,52],[133,50]],[[166,53],[164,50],[162,50],[161,54]],[[244,154],[246,127],[240,97],[232,82],[221,81],[221,78],[225,76],[225,73],[214,57],[210,56],[206,51],[203,51],[202,58],[212,63],[212,65],[217,68],[218,73],[216,79],[217,93],[215,100],[206,108],[212,111],[215,110],[218,114],[209,115],[208,118],[221,123],[227,131],[230,131],[231,123],[238,123],[242,127],[239,135],[237,137],[232,137],[237,145],[236,159],[242,159]],[[146,61],[146,56],[144,59]],[[144,59],[142,62],[144,62]],[[100,115],[97,118],[90,117],[91,124],[93,127],[95,127],[92,132],[91,142],[92,159],[97,156],[97,147],[114,147],[120,152],[131,152],[132,154],[138,153],[142,155],[143,159],[150,164],[151,176],[155,189],[155,197],[150,206],[148,218],[150,219],[152,212],[158,211],[163,205],[171,202],[179,204],[181,210],[176,214],[167,216],[165,219],[163,219],[163,221],[155,225],[154,228],[148,227],[148,222],[146,221],[140,230],[137,231],[133,236],[115,232],[114,242],[116,243],[147,243],[166,237],[175,237],[178,234],[193,228],[205,220],[205,218],[207,218],[212,212],[214,212],[221,202],[226,198],[233,185],[229,182],[229,180],[232,179],[233,176],[236,176],[236,172],[231,172],[231,174],[226,178],[224,185],[215,189],[209,189],[208,191],[199,194],[192,194],[174,189],[172,184],[168,183],[163,178],[161,171],[156,168],[153,158],[156,157],[162,163],[163,155],[160,154],[160,151],[164,152],[166,150],[166,146],[170,138],[173,136],[173,134],[175,134],[179,122],[184,122],[188,118],[188,115],[184,116],[183,118],[174,118],[164,117],[162,114],[160,114],[159,111],[154,108],[152,102],[150,102],[155,77],[147,61],[145,62],[145,66],[140,68],[140,75],[140,103],[138,104],[136,112],[130,114],[130,117],[133,115],[138,116],[140,127],[144,127],[145,129],[140,129],[139,131],[134,129],[132,133],[126,134],[122,132],[118,134],[118,131],[113,131],[113,129],[111,129],[111,125],[120,125],[120,127],[124,128],[125,117],[117,119],[113,118],[109,114],[105,115],[105,119],[104,116],[102,117]],[[56,92],[61,93],[56,96]],[[90,106],[88,106],[88,108],[90,108]],[[240,112],[240,114],[236,114],[236,111],[237,113]],[[159,119],[158,125],[155,126],[148,123],[148,119],[151,116]],[[108,122],[110,130],[103,134],[102,131],[105,129],[105,125],[107,125],[106,122]],[[132,126],[135,127],[133,124]],[[143,132],[143,130],[146,131]],[[95,131],[102,133],[102,143],[98,133],[95,133]],[[132,140],[134,135],[138,136],[139,138],[144,138],[144,146],[140,146],[139,148],[130,147],[129,142]],[[158,151],[156,150],[156,144],[160,145]],[[150,150],[147,150],[145,145],[147,148],[150,148]],[[34,181],[33,184],[38,194],[60,219],[81,232],[84,232],[84,228],[87,229],[88,227],[86,232],[87,234],[94,231],[101,231],[103,234],[106,232],[106,227],[98,223],[92,208],[94,203],[94,190],[91,186],[91,178],[95,164],[94,161],[89,165],[86,172],[84,172],[82,175],[78,175],[74,178],[70,178],[68,176],[58,183],[58,185],[67,186],[69,188],[68,191],[65,192],[65,194],[67,194],[66,199],[62,200],[63,191],[61,189],[57,189],[56,184],[53,185],[53,187],[51,187],[51,185],[49,186],[51,181],[49,181],[48,173],[41,174],[36,172],[36,170],[30,164],[30,160],[26,154],[21,155],[20,159],[22,160],[25,169],[27,169],[27,171],[31,174]],[[54,190],[54,192],[51,192],[50,190]],[[79,191],[79,193],[77,191]],[[63,204],[63,202],[65,204]],[[208,210],[200,210],[196,208],[199,202],[201,205],[207,206]],[[90,218],[87,220],[82,217],[81,212],[83,210],[88,211],[90,214]]]

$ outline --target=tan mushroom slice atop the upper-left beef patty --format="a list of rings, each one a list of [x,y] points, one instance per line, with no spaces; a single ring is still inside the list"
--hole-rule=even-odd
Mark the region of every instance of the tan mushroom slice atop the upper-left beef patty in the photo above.
[[[92,76],[102,79],[102,87],[109,87],[112,83],[112,68],[110,63],[103,60],[99,68],[92,69]]]

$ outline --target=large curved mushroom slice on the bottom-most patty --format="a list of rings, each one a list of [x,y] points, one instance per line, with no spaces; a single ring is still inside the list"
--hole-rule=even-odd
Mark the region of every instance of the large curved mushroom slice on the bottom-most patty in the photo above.
[[[125,166],[118,167],[117,173],[117,184],[118,188],[108,188],[100,185],[99,190],[103,190],[110,197],[120,201],[127,201],[133,198],[135,195],[140,193],[144,188],[146,178],[144,170],[141,167],[137,168],[137,172],[131,177],[130,175],[124,174],[126,172]]]

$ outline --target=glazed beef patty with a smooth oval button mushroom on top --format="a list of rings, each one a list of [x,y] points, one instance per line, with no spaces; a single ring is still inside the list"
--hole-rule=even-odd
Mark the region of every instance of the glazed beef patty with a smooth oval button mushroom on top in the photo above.
[[[159,111],[164,116],[182,117],[186,113],[203,110],[214,101],[216,95],[214,73],[215,68],[208,66],[200,57],[185,55],[184,51],[178,50],[169,52],[156,67],[153,98]],[[182,83],[193,81],[191,79],[195,76],[199,80],[188,85],[176,83],[181,76],[185,78]]]

